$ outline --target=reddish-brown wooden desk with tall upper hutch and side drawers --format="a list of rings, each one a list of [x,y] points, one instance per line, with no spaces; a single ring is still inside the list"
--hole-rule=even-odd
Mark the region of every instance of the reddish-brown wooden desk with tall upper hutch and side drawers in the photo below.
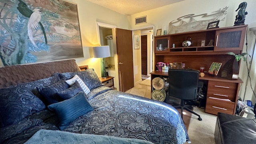
[[[185,69],[199,70],[200,67],[204,67],[205,71],[209,70],[212,62],[222,62],[222,67],[217,76],[210,76],[205,73],[204,77],[199,77],[207,86],[205,112],[235,114],[242,80],[240,78],[238,80],[228,80],[221,78],[220,74],[223,65],[232,58],[231,55],[226,54],[227,52],[242,53],[246,28],[247,25],[242,25],[155,36],[154,62],[155,64],[157,62],[182,62],[185,63]],[[182,42],[187,40],[188,37],[191,38],[193,44],[189,47],[183,47]],[[205,46],[201,46],[202,40],[205,40]],[[214,40],[214,45],[207,46],[210,40]],[[175,44],[175,48],[172,48],[172,44]],[[158,48],[158,46],[162,48]],[[153,71],[150,74],[151,80],[160,76],[168,77],[168,72]]]

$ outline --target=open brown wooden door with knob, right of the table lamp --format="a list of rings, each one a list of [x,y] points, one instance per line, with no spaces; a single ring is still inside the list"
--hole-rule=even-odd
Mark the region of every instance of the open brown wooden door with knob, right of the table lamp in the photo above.
[[[126,92],[134,87],[131,30],[116,28],[116,50],[120,91]]]

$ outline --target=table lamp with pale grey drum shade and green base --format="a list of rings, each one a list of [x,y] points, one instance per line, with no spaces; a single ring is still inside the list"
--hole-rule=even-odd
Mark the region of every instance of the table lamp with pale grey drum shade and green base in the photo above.
[[[106,78],[105,58],[110,57],[109,46],[95,46],[92,50],[94,58],[100,58],[101,77]]]

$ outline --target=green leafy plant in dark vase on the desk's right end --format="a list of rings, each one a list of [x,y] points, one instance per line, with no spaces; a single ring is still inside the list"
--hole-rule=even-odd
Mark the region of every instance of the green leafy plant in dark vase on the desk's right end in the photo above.
[[[243,58],[246,61],[246,56],[248,53],[244,52],[242,54],[234,54],[234,52],[228,52],[227,54],[232,55],[232,58],[226,62],[223,66],[221,72],[222,78],[227,78],[229,80],[237,80],[239,72],[239,61]]]

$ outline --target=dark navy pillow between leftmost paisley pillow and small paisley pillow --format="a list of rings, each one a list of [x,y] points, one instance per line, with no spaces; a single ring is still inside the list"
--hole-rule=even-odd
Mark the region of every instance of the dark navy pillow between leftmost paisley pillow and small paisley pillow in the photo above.
[[[58,82],[44,87],[38,87],[38,92],[48,101],[46,105],[54,104],[63,101],[63,99],[58,96],[57,92],[69,88],[69,85],[65,80],[59,80]]]

